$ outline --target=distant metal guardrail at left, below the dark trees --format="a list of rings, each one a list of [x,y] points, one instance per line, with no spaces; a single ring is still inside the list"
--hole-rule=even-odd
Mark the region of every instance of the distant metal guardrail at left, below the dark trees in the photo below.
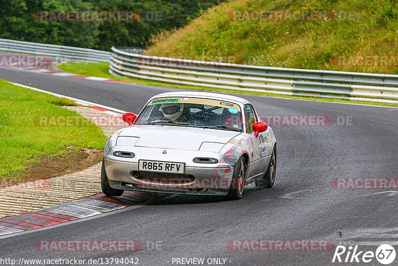
[[[47,55],[54,61],[109,62],[110,52],[63,45],[15,41],[0,38],[0,50],[26,54]]]

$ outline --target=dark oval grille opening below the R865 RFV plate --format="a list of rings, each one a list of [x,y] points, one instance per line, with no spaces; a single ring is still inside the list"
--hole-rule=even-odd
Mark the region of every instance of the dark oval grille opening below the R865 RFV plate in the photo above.
[[[147,172],[147,171],[133,171],[132,176],[134,177],[134,179],[142,182],[159,183],[164,185],[190,184],[195,180],[195,177],[190,174],[175,174],[175,173]]]

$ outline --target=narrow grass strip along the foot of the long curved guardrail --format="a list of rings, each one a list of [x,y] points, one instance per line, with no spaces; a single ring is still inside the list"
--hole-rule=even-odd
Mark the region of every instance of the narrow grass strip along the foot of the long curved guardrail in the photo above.
[[[207,87],[199,87],[199,86],[180,85],[180,84],[173,84],[173,83],[162,83],[162,82],[148,81],[148,80],[144,80],[144,79],[127,78],[127,77],[115,77],[108,73],[108,69],[109,69],[108,63],[65,63],[65,64],[58,65],[58,68],[63,71],[74,73],[74,74],[109,78],[109,79],[133,82],[133,83],[143,84],[143,85],[181,88],[181,89],[188,89],[188,90],[202,90],[202,91],[227,92],[227,93],[236,93],[236,94],[273,96],[273,97],[283,97],[283,98],[293,98],[293,99],[303,99],[303,100],[316,100],[316,101],[325,101],[325,102],[355,103],[355,104],[365,104],[365,105],[380,105],[380,106],[396,106],[396,107],[398,107],[398,104],[349,101],[349,100],[344,100],[344,99],[329,99],[329,98],[320,98],[320,97],[288,96],[288,95],[279,95],[279,94],[272,94],[272,93],[236,91],[236,90],[207,88]]]

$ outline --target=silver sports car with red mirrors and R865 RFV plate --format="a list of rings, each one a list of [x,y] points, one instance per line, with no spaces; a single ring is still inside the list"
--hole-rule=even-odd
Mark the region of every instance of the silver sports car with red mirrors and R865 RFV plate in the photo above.
[[[102,191],[124,190],[240,199],[243,187],[275,182],[277,141],[245,99],[171,92],[152,97],[128,127],[106,141]]]

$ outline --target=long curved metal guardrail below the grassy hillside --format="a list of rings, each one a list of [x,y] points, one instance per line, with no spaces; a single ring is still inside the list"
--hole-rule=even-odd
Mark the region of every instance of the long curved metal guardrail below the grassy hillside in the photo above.
[[[109,73],[160,82],[282,95],[398,103],[398,75],[238,65],[111,48]]]

